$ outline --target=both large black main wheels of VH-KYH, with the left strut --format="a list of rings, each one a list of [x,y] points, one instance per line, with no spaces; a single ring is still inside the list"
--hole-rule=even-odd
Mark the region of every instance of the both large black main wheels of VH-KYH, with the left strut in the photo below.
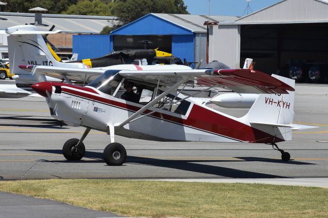
[[[84,157],[86,147],[83,140],[89,134],[91,128],[87,128],[80,140],[69,139],[63,146],[63,155],[69,161],[78,161]],[[107,165],[120,166],[127,160],[127,150],[123,145],[112,142],[104,150],[104,161]]]

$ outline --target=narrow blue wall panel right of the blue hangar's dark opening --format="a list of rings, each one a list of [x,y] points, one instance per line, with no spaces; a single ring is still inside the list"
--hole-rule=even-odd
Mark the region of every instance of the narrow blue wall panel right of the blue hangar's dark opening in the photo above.
[[[173,35],[172,54],[182,61],[186,58],[188,62],[195,62],[194,35]]]

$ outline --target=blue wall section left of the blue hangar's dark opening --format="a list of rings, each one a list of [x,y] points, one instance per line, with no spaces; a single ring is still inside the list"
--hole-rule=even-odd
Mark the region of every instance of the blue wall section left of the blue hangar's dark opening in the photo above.
[[[73,35],[73,53],[78,54],[78,60],[101,57],[110,51],[109,35]]]

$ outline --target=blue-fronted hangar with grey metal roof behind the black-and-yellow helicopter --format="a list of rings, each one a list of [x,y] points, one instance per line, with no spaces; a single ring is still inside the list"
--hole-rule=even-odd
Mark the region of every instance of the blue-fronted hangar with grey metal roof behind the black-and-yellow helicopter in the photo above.
[[[236,18],[211,16],[210,21],[233,21]],[[201,65],[203,67],[206,62],[207,26],[204,26],[206,21],[208,21],[208,17],[203,15],[151,13],[114,30],[110,34],[108,52],[144,48],[144,45],[140,45],[141,41],[149,41],[151,44],[147,45],[148,49],[159,48],[159,50],[172,53],[181,59],[185,58],[187,62],[199,62],[203,59]],[[94,57],[99,56],[89,50],[75,50],[75,48],[86,45],[86,41],[89,40],[88,36],[73,36],[73,52],[79,53],[81,57],[85,57],[88,53],[95,55]],[[100,44],[104,45],[106,40],[108,39],[103,37],[100,41],[95,42],[99,44],[95,45],[96,48],[101,47]]]

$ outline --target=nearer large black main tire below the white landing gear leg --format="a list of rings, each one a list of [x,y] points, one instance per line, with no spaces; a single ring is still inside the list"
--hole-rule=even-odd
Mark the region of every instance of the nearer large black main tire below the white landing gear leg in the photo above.
[[[127,150],[117,142],[110,143],[104,150],[104,161],[109,166],[120,166],[127,160]]]

